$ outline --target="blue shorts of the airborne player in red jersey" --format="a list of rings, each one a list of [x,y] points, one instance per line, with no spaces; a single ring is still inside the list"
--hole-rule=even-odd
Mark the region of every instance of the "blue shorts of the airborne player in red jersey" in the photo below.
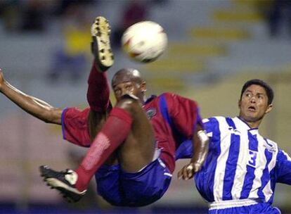
[[[103,165],[95,175],[97,191],[114,206],[146,206],[167,191],[172,174],[160,158],[140,172],[124,172],[120,165]]]

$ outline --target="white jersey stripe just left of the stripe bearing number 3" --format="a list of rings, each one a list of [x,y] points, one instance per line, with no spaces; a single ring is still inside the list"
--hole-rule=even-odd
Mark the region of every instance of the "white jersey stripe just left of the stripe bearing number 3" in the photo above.
[[[223,117],[216,118],[219,121],[219,130],[228,130],[228,123],[226,119]],[[231,134],[226,134],[225,132],[221,132],[220,134],[221,144],[220,149],[221,153],[217,158],[217,166],[214,175],[214,187],[213,187],[213,194],[214,194],[214,201],[221,201],[222,194],[224,191],[224,173],[226,168],[226,160],[228,158],[229,146],[231,145]],[[219,182],[216,182],[219,181]]]

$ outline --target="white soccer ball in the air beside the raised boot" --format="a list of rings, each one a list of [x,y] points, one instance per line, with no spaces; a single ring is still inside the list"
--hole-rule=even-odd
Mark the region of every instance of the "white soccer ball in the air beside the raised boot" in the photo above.
[[[122,48],[129,58],[141,63],[155,61],[167,47],[167,34],[152,21],[131,25],[122,35]]]

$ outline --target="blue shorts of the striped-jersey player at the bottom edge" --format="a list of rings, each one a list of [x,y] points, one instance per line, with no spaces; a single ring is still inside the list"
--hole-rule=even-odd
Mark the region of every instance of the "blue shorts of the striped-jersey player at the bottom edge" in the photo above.
[[[209,214],[280,214],[280,210],[269,203],[257,203],[250,206],[209,210]]]

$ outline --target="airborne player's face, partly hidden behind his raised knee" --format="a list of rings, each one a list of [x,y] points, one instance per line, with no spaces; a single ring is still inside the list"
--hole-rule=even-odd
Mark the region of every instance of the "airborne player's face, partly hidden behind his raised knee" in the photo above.
[[[120,82],[119,84],[115,84],[113,92],[117,101],[119,101],[124,94],[131,94],[141,99],[143,84],[138,84],[134,81]]]

